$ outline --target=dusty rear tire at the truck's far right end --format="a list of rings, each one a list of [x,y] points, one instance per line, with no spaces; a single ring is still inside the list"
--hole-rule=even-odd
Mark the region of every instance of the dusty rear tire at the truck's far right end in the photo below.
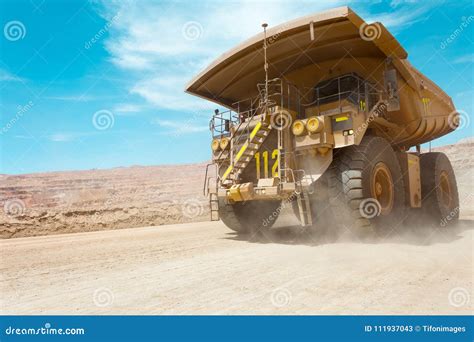
[[[420,155],[421,207],[429,222],[448,226],[459,219],[459,195],[453,167],[444,153]]]

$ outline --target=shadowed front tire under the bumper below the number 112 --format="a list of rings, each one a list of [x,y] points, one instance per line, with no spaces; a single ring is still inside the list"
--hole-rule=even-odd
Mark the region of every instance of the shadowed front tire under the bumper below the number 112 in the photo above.
[[[280,214],[281,201],[247,201],[228,203],[219,199],[219,217],[239,234],[264,232],[270,229]]]

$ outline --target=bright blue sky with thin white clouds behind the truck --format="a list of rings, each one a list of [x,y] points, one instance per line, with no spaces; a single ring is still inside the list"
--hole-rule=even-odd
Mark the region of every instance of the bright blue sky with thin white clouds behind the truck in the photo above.
[[[262,22],[346,4],[367,22],[383,22],[412,64],[472,115],[469,0],[0,4],[0,173],[208,160],[215,105],[184,94],[184,85]],[[472,135],[471,120],[435,144]]]

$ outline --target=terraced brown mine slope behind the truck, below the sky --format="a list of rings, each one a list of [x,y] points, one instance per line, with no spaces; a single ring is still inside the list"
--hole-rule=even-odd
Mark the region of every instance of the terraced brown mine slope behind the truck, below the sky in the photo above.
[[[474,215],[474,140],[434,150],[453,164],[461,215]],[[0,238],[208,220],[205,165],[0,175]]]

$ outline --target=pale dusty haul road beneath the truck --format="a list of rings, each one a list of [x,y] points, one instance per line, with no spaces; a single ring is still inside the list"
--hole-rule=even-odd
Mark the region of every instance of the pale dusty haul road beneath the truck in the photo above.
[[[1,314],[472,314],[473,230],[376,244],[222,223],[0,241]]]

